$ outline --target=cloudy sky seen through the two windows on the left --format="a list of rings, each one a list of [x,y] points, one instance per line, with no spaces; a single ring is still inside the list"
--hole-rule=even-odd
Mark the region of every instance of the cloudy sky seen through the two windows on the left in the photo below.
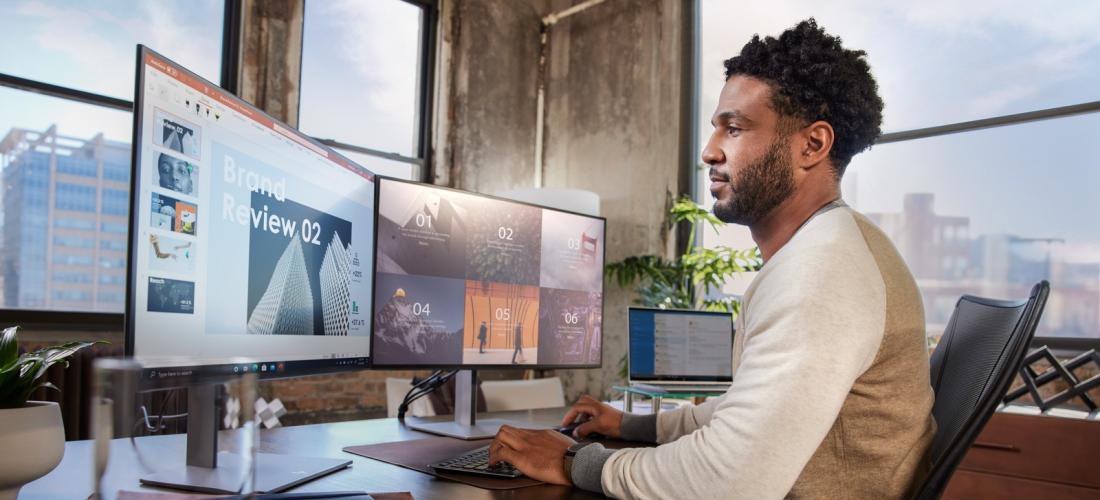
[[[132,100],[134,46],[142,43],[220,79],[220,0],[0,2],[0,73]],[[397,0],[307,1],[299,127],[416,156],[419,12]],[[132,135],[129,112],[0,87],[0,135],[51,124],[79,138]]]

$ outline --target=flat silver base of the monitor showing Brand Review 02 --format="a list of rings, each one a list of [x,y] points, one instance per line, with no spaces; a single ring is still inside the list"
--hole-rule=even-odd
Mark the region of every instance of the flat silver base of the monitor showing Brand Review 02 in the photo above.
[[[285,491],[349,466],[351,460],[340,458],[257,453],[255,490],[261,493]],[[241,457],[221,453],[217,467],[188,465],[143,477],[141,484],[201,493],[237,495],[242,492],[241,478]]]

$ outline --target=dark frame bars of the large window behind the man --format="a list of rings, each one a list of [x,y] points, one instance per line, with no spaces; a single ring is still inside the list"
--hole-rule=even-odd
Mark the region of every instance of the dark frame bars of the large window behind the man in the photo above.
[[[690,123],[681,124],[681,126],[688,129],[685,134],[690,135],[691,137],[690,149],[692,151],[692,156],[685,160],[685,165],[686,168],[690,168],[692,173],[691,174],[692,180],[690,182],[692,199],[698,202],[700,200],[704,199],[703,189],[705,188],[704,186],[701,186],[700,176],[694,169],[694,166],[696,165],[695,158],[698,158],[702,153],[698,149],[700,134],[702,133],[702,131],[698,130],[697,123],[698,123],[698,113],[701,112],[698,96],[701,95],[700,86],[702,85],[702,78],[700,75],[700,69],[701,69],[700,57],[702,54],[701,35],[703,31],[702,31],[701,12],[703,9],[702,9],[702,0],[692,0],[691,3],[694,9],[694,12],[692,12],[692,15],[690,15],[690,18],[692,18],[692,25],[690,29],[692,36],[691,41],[692,57],[689,60],[691,60],[692,67],[685,69],[685,71],[690,71],[691,74],[691,84],[686,86],[686,93],[689,93],[690,96],[686,97],[685,100],[692,103],[692,109],[690,110],[690,112],[684,113],[691,116]],[[936,124],[932,126],[924,126],[917,129],[903,129],[899,131],[891,131],[880,135],[879,138],[875,142],[875,145],[915,141],[915,140],[935,137],[941,135],[974,132],[985,129],[1012,126],[1012,125],[1032,123],[1043,120],[1058,120],[1058,119],[1076,116],[1080,114],[1097,113],[1097,112],[1100,112],[1100,100],[1076,102],[1067,105],[1036,109],[1036,110],[1030,110],[1011,114],[987,116],[977,120],[967,120],[963,122],[943,123],[943,124]],[[696,242],[695,245],[697,246],[703,245],[703,238],[701,234],[696,234],[695,242]],[[1032,341],[1032,346],[1043,346],[1043,345],[1050,347],[1059,355],[1075,354],[1088,349],[1100,351],[1100,337],[1090,338],[1090,337],[1036,336]]]

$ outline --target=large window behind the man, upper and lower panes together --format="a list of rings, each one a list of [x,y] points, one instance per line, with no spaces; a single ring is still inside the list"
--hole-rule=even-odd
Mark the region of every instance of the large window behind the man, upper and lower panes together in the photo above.
[[[1097,5],[701,0],[700,10],[700,149],[722,62],[754,33],[777,35],[814,16],[845,45],[867,51],[878,79],[886,134],[853,159],[842,188],[906,259],[930,336],[943,333],[963,293],[1022,298],[1047,279],[1052,295],[1036,335],[1100,340],[1100,160],[1089,154],[1100,113],[1012,116],[1097,108]],[[986,119],[994,126],[945,126]],[[710,192],[698,191],[711,205]],[[719,242],[752,245],[740,226],[708,233],[703,244]]]

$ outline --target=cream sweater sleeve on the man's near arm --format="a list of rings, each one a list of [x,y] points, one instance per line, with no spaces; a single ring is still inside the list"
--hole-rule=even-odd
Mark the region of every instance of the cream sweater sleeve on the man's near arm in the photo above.
[[[886,321],[873,260],[840,265],[815,255],[801,252],[761,273],[725,397],[660,418],[667,444],[610,455],[601,477],[606,495],[779,499],[790,491],[873,362]]]

